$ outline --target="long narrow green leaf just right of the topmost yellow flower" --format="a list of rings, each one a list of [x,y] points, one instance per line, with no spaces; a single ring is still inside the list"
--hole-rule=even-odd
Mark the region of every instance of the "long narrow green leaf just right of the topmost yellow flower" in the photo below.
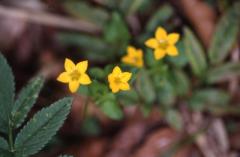
[[[184,28],[184,45],[186,56],[196,76],[202,77],[207,69],[207,62],[203,48],[189,28]]]

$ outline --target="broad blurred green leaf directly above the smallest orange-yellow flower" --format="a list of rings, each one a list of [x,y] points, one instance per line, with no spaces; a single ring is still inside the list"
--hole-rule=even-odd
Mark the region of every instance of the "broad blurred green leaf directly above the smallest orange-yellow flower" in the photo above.
[[[104,39],[109,43],[125,46],[130,39],[128,27],[118,13],[113,13],[104,30]]]

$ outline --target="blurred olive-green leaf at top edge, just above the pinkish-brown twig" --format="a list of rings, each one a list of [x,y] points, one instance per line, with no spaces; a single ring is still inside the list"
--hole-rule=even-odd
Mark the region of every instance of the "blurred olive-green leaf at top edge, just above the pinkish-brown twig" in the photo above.
[[[100,27],[102,27],[109,18],[109,15],[105,10],[90,6],[85,2],[67,1],[64,3],[64,7],[66,11],[73,16]]]

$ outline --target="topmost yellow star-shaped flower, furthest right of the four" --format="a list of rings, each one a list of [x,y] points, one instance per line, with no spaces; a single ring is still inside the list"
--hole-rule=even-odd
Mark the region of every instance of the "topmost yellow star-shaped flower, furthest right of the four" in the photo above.
[[[154,56],[158,60],[166,54],[169,56],[177,56],[178,50],[175,44],[178,40],[178,33],[170,33],[168,35],[164,28],[158,27],[155,32],[155,38],[148,39],[145,45],[154,49]]]

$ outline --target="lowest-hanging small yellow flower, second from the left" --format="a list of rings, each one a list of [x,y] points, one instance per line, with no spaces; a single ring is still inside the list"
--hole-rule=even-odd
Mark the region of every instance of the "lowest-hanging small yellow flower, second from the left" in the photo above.
[[[117,93],[119,90],[129,90],[130,86],[128,81],[131,76],[132,73],[122,72],[122,70],[116,66],[112,73],[108,75],[108,82],[112,92]]]

